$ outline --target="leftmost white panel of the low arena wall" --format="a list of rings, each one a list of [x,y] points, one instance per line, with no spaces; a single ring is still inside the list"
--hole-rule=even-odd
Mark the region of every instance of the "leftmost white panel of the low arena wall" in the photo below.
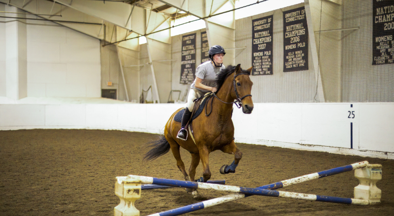
[[[0,126],[44,126],[45,105],[1,105]]]

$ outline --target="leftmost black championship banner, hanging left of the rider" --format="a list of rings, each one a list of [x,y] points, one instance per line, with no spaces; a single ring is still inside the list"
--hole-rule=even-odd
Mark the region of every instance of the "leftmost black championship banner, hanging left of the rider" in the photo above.
[[[196,33],[182,36],[181,84],[191,84],[196,71]]]

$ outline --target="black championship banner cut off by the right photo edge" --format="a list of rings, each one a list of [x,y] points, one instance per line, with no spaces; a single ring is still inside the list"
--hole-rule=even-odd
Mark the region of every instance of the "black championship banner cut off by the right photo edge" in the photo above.
[[[394,0],[372,0],[372,65],[394,63]]]

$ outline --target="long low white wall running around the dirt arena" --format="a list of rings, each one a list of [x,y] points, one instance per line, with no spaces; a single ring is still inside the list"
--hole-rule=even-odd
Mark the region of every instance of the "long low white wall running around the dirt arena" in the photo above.
[[[0,130],[101,129],[162,134],[169,116],[182,106],[5,102],[0,104]],[[394,159],[393,110],[394,103],[255,104],[250,115],[234,106],[232,119],[236,142]]]

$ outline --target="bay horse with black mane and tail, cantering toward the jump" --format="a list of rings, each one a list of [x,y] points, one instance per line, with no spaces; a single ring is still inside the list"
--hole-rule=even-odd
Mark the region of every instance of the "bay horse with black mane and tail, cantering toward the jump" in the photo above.
[[[242,152],[236,147],[234,143],[234,125],[231,120],[232,115],[232,104],[236,104],[238,108],[242,106],[243,113],[250,114],[253,110],[252,101],[252,85],[253,82],[250,80],[250,72],[253,67],[242,70],[241,65],[237,66],[229,65],[226,69],[220,71],[216,76],[217,92],[212,97],[212,101],[205,106],[202,113],[210,111],[210,115],[200,114],[196,119],[193,120],[193,131],[195,141],[189,134],[186,141],[177,139],[176,136],[181,128],[181,124],[174,120],[174,116],[178,111],[183,108],[176,110],[171,117],[168,119],[165,128],[164,135],[161,135],[160,139],[151,142],[148,147],[152,148],[148,151],[144,160],[151,161],[164,154],[171,149],[174,158],[176,159],[176,165],[179,170],[183,173],[185,181],[194,181],[196,175],[196,167],[200,160],[203,169],[203,178],[199,181],[206,182],[211,178],[211,171],[209,170],[209,153],[215,150],[221,150],[228,154],[234,155],[234,164],[238,164],[242,158]],[[193,89],[191,89],[192,91]],[[236,100],[236,101],[235,101]],[[235,101],[235,102],[234,102]],[[194,108],[196,109],[196,108]],[[206,110],[208,109],[208,110]],[[181,159],[179,148],[189,151],[192,155],[192,163],[189,168],[189,175],[186,172],[185,164]],[[229,172],[235,172],[234,170],[227,171],[228,165],[223,165],[220,172],[227,174]],[[190,191],[189,191],[190,192]]]

